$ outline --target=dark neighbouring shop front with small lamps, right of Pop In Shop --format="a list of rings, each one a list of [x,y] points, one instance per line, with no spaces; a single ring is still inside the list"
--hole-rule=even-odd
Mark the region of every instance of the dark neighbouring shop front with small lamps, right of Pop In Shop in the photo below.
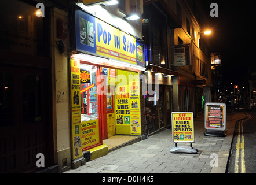
[[[145,117],[147,134],[153,134],[171,126],[173,112],[173,77],[177,72],[157,65],[149,64],[147,76],[147,94],[145,98]]]

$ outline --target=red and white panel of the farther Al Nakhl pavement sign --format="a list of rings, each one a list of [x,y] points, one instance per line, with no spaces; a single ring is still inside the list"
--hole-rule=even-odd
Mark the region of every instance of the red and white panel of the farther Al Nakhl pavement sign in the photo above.
[[[224,131],[226,129],[226,104],[206,103],[204,110],[204,128]]]

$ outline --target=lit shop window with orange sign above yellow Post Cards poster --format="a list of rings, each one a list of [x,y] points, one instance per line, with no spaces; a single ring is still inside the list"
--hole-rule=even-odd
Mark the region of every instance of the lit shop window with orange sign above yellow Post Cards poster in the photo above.
[[[82,150],[100,143],[100,128],[98,120],[98,94],[97,94],[97,70],[94,65],[80,62],[80,86],[81,86],[81,130]]]

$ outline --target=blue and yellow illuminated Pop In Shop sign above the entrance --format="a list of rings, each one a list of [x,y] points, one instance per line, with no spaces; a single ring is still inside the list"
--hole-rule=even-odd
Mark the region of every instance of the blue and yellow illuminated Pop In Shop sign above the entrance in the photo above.
[[[76,51],[144,65],[142,40],[137,40],[82,10],[75,10],[75,24]]]

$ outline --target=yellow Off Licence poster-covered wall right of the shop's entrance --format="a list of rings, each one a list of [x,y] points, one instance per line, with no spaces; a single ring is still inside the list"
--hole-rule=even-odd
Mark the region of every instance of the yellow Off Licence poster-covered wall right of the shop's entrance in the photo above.
[[[118,70],[115,90],[116,134],[141,135],[138,73]]]

